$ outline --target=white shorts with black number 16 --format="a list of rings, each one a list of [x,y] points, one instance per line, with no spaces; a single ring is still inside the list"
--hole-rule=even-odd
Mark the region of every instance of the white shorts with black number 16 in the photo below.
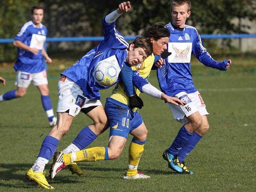
[[[168,103],[174,119],[179,121],[181,124],[188,123],[187,117],[197,111],[201,116],[209,115],[206,110],[204,100],[198,91],[194,93],[179,92],[175,97],[187,103],[184,106],[176,106]]]

